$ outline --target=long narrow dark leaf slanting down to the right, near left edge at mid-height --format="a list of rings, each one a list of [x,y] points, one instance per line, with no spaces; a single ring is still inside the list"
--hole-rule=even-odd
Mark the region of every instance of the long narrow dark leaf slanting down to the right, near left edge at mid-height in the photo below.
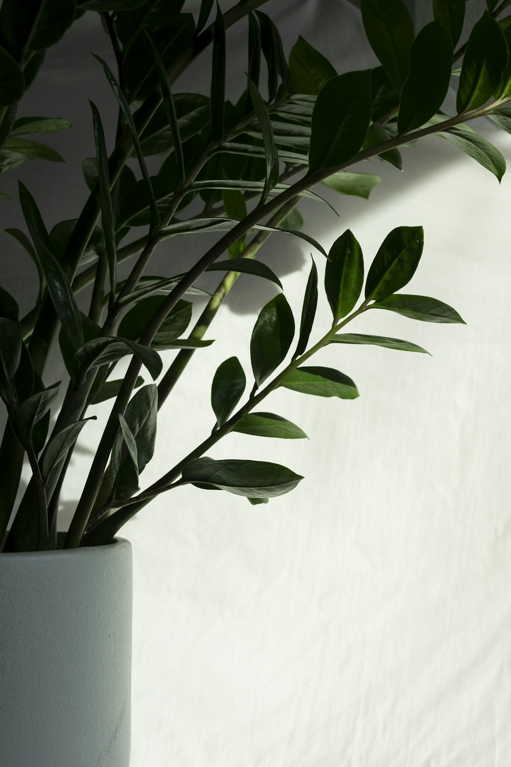
[[[55,257],[51,240],[34,198],[21,181],[18,184],[21,209],[41,263],[51,301],[70,344],[77,349],[84,343],[84,334],[73,290]]]

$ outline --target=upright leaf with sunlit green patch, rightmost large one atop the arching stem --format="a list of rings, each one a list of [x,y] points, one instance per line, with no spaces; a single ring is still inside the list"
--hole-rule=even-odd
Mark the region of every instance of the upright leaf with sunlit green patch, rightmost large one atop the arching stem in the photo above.
[[[458,114],[486,103],[499,87],[508,60],[503,32],[485,11],[468,38],[456,97]]]

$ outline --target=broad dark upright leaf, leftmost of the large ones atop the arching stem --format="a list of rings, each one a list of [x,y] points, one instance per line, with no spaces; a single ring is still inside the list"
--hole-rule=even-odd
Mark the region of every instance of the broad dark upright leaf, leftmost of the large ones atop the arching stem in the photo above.
[[[359,152],[371,120],[371,71],[332,77],[316,99],[310,137],[310,170],[335,168]]]

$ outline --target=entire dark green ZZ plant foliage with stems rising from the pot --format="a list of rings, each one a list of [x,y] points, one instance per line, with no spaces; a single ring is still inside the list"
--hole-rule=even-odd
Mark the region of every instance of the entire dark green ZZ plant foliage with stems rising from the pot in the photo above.
[[[317,397],[358,397],[346,374],[313,363],[316,351],[329,344],[424,352],[408,341],[346,332],[360,314],[393,311],[419,321],[463,322],[442,301],[401,292],[421,258],[421,227],[392,229],[365,275],[355,235],[348,229],[326,252],[301,230],[296,206],[303,197],[324,202],[319,183],[341,194],[369,196],[379,179],[360,172],[361,161],[379,156],[401,170],[399,147],[431,134],[453,143],[500,181],[503,156],[468,123],[487,116],[511,133],[511,15],[503,13],[511,3],[488,0],[460,45],[464,0],[434,0],[434,21],[417,32],[401,0],[362,0],[365,33],[380,63],[340,74],[302,36],[287,58],[277,27],[260,10],[264,4],[241,0],[222,12],[213,0],[202,0],[192,15],[182,0],[2,3],[2,173],[29,159],[62,159],[32,137],[70,123],[16,119],[16,110],[24,91],[38,87],[46,49],[84,13],[100,15],[110,35],[116,71],[96,58],[119,115],[115,146],[107,147],[102,117],[90,104],[96,156],[84,160],[90,195],[77,219],[48,232],[36,200],[19,183],[26,229],[6,230],[34,262],[39,291],[34,308],[20,317],[15,298],[0,288],[0,394],[8,414],[0,446],[3,551],[57,548],[59,499],[70,457],[87,435],[97,403],[110,400],[112,407],[65,548],[110,542],[156,495],[184,484],[244,495],[253,504],[292,490],[302,477],[284,466],[215,460],[208,452],[231,431],[305,436],[300,426],[260,410],[277,387]],[[235,103],[225,86],[226,30],[232,25],[243,25],[247,34],[246,88]],[[209,96],[174,92],[179,75],[208,46]],[[442,111],[450,84],[457,89],[454,115]],[[138,177],[127,164],[132,156]],[[154,176],[147,156],[162,157]],[[201,232],[218,232],[218,239],[188,272],[152,273],[151,256],[162,241],[197,235],[199,249]],[[293,317],[274,271],[255,260],[273,232],[301,237],[316,251],[316,261],[325,259],[324,294],[319,295],[313,258],[300,317]],[[127,259],[129,275],[119,280],[117,267]],[[213,270],[220,273],[218,289],[190,330],[192,303],[186,296],[201,292],[198,278]],[[241,273],[280,289],[255,322],[252,369],[244,370],[237,357],[219,360],[211,381],[214,429],[141,490],[139,476],[152,458],[159,408],[195,351],[201,354],[201,347],[212,343],[205,337],[208,328]],[[93,288],[86,314],[75,296],[88,285]],[[311,339],[320,298],[329,304],[332,324]],[[67,387],[42,381],[56,341]],[[163,350],[175,350],[165,371]],[[115,368],[123,357],[130,362],[119,378]],[[64,399],[57,408],[59,393]],[[25,459],[31,479],[11,519]]]

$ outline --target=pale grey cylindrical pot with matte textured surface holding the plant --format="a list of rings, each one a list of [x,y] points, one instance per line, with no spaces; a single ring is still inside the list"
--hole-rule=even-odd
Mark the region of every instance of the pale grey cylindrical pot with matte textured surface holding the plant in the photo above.
[[[132,555],[0,554],[0,767],[129,767]]]

